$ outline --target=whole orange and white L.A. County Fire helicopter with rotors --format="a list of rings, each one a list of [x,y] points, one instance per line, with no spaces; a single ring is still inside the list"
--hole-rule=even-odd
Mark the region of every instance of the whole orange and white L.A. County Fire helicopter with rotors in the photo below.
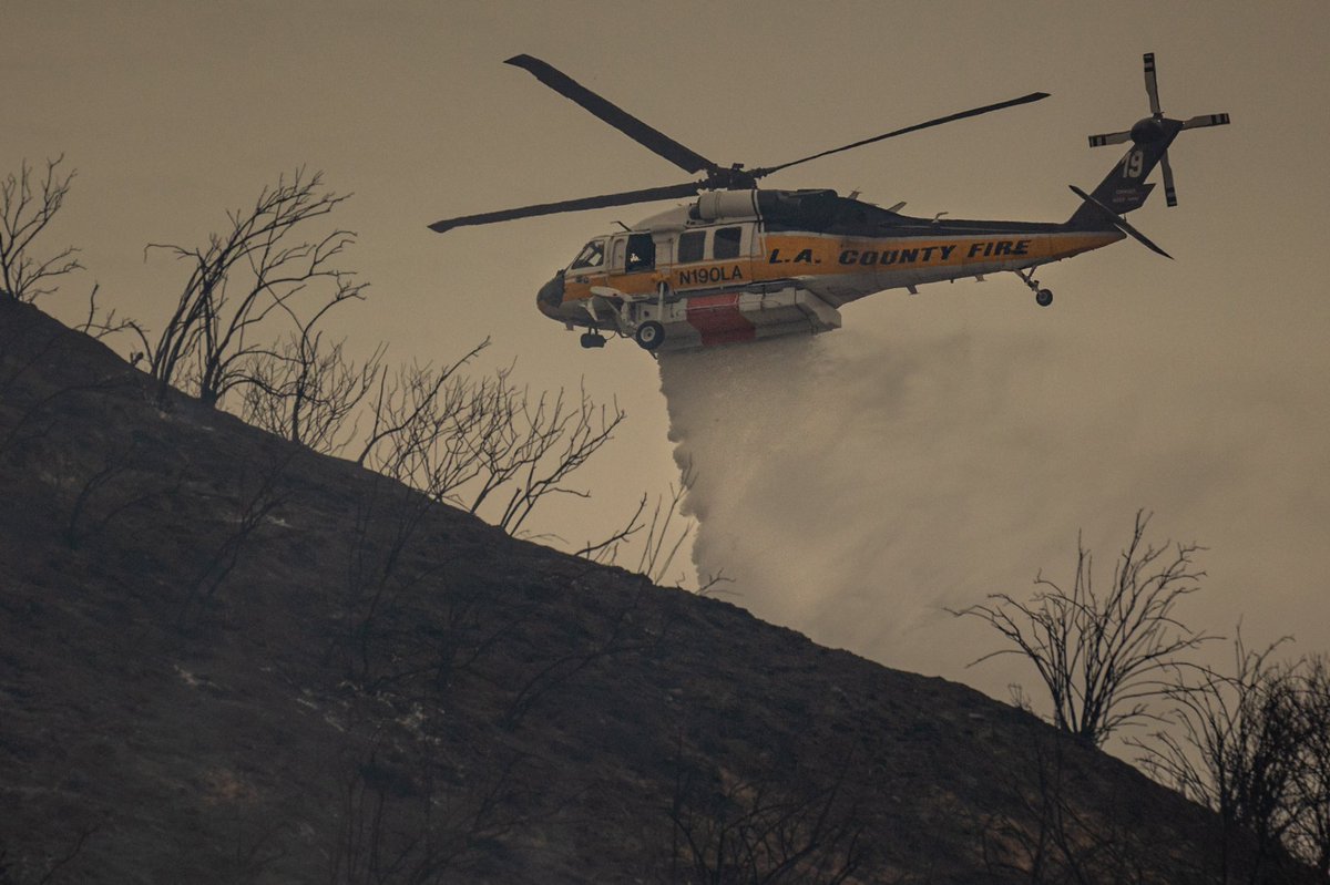
[[[568,267],[555,274],[536,298],[540,311],[577,327],[585,348],[604,347],[605,332],[632,338],[646,351],[677,351],[751,342],[841,327],[839,307],[888,288],[911,295],[924,283],[983,279],[1015,272],[1037,304],[1052,291],[1035,268],[1132,237],[1172,258],[1127,222],[1154,185],[1145,179],[1160,166],[1169,206],[1177,205],[1168,148],[1184,129],[1218,126],[1228,114],[1173,120],[1160,109],[1154,54],[1145,54],[1145,92],[1150,116],[1129,130],[1091,136],[1089,145],[1130,142],[1103,182],[1080,198],[1065,222],[959,221],[914,218],[841,197],[834,190],[769,190],[757,182],[771,173],[821,157],[987,114],[1048,97],[1035,92],[895,129],[850,145],[774,166],[722,166],[674,141],[596,94],[545,61],[521,54],[505,64],[533,74],[633,141],[690,174],[662,187],[523,206],[435,222],[438,233],[468,225],[556,213],[689,198],[684,206],[644,219],[632,229],[591,239]]]

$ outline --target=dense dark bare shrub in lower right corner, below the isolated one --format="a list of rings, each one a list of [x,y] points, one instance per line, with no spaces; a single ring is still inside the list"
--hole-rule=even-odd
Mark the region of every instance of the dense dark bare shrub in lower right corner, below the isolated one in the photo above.
[[[1234,639],[1234,672],[1186,668],[1166,692],[1172,728],[1136,743],[1156,780],[1218,813],[1222,881],[1233,876],[1230,849],[1240,829],[1256,840],[1253,881],[1293,827],[1306,728],[1295,668],[1271,660],[1282,643],[1252,651]]]

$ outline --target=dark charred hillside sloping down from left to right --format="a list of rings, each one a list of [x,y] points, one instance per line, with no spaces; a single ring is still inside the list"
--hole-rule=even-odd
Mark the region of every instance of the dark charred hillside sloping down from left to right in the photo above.
[[[0,303],[0,882],[1220,880],[1017,710],[146,388]]]

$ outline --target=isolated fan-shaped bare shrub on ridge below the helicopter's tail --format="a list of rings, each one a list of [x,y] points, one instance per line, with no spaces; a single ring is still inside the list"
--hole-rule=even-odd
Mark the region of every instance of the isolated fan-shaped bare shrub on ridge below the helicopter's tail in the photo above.
[[[1077,537],[1076,574],[1063,587],[1043,573],[1029,602],[1005,593],[952,614],[974,617],[1009,646],[999,655],[1021,655],[1039,671],[1053,706],[1053,724],[1091,745],[1148,718],[1146,702],[1168,691],[1161,679],[1180,656],[1212,639],[1176,617],[1177,603],[1200,589],[1194,563],[1202,547],[1145,542],[1149,514],[1137,512],[1132,540],[1113,566],[1107,591],[1093,582],[1091,551]]]

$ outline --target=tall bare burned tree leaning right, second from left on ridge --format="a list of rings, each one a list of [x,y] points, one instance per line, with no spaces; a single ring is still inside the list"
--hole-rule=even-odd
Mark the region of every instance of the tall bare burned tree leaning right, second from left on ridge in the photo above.
[[[334,267],[354,242],[347,230],[303,239],[310,222],[329,215],[346,197],[322,191],[321,173],[297,169],[287,181],[265,187],[247,210],[227,213],[226,233],[207,246],[152,243],[190,266],[176,310],[156,343],[138,336],[158,383],[158,400],[184,385],[209,407],[253,379],[255,359],[277,359],[263,330],[270,316],[297,316],[297,300],[318,292],[322,316],[335,304],[362,298],[363,283]],[[306,332],[313,320],[298,323]]]

